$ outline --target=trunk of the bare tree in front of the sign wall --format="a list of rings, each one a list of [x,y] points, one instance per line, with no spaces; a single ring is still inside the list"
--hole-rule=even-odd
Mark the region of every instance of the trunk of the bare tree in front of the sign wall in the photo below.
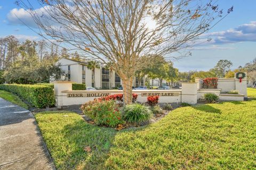
[[[124,106],[132,103],[132,77],[122,78],[122,86],[124,93]]]

